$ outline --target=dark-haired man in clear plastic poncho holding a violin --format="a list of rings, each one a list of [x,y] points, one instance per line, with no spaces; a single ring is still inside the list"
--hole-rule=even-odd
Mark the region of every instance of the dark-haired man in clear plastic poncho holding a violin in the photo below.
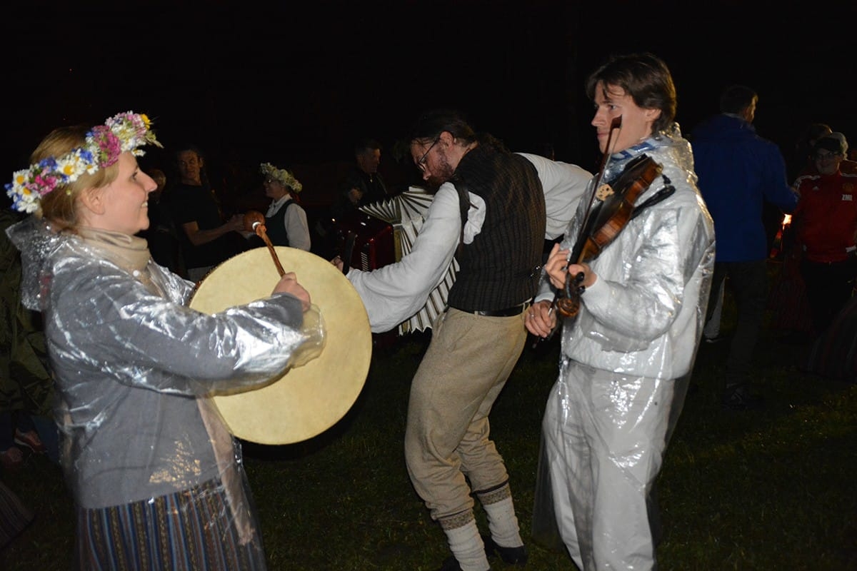
[[[560,318],[563,325],[539,471],[548,475],[553,505],[536,501],[533,528],[539,518],[555,518],[584,571],[651,569],[650,491],[704,327],[714,229],[696,186],[691,147],[674,122],[666,64],[651,54],[614,57],[590,75],[586,92],[595,103],[591,123],[604,153],[602,169],[551,251],[525,319],[527,330],[542,337]],[[602,248],[573,257],[603,230],[592,220],[604,219],[617,200],[627,205],[625,185],[618,183],[649,158],[655,176],[634,197],[621,228]],[[640,190],[639,181],[630,182]],[[562,307],[569,297],[579,298],[578,309],[558,316],[556,302]]]

